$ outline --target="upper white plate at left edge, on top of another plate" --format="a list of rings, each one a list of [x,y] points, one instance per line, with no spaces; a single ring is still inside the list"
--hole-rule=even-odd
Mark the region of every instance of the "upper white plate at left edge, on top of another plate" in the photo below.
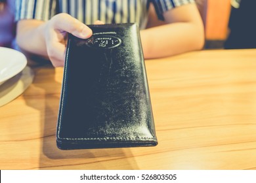
[[[27,65],[27,58],[21,52],[0,47],[0,85],[20,73]]]

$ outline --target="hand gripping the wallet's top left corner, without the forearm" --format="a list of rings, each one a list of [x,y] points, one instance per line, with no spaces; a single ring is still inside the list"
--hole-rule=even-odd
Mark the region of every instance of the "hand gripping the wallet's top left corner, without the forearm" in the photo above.
[[[45,25],[44,39],[47,54],[54,67],[64,66],[68,33],[72,33],[72,35],[81,39],[88,39],[93,34],[87,25],[69,14],[61,13],[53,16]]]

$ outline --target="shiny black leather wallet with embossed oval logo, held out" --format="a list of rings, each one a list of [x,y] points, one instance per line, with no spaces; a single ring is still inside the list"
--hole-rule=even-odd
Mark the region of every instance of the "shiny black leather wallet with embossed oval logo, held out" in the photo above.
[[[69,35],[56,128],[62,150],[156,146],[136,24],[89,25]]]

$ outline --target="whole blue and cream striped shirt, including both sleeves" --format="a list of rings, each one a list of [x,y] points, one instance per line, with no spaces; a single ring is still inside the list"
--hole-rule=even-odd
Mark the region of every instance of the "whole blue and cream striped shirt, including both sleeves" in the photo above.
[[[87,25],[101,20],[106,24],[137,23],[144,28],[149,3],[154,4],[158,18],[163,20],[167,10],[194,0],[17,0],[15,19],[46,21],[65,12]]]

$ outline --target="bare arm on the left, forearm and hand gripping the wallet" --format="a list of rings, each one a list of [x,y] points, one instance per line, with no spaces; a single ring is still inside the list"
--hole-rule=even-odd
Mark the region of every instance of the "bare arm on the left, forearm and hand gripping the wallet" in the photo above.
[[[16,41],[25,52],[51,59],[54,67],[64,65],[65,37],[72,33],[81,39],[91,37],[92,31],[69,14],[56,14],[50,20],[20,20]]]

